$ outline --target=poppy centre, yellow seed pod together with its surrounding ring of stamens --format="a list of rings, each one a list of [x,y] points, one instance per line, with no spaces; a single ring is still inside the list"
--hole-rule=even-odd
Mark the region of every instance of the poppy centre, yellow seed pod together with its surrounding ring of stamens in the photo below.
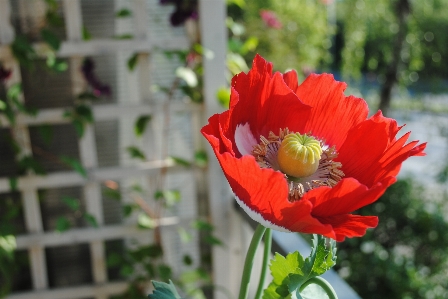
[[[289,200],[299,200],[306,192],[320,186],[335,186],[343,177],[342,164],[333,161],[338,156],[334,147],[306,134],[280,129],[279,135],[269,132],[260,136],[252,150],[261,168],[272,168],[285,174]]]

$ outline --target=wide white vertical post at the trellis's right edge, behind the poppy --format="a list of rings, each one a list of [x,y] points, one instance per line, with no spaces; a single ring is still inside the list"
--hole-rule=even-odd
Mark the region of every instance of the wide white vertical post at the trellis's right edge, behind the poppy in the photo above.
[[[225,1],[200,0],[199,16],[202,46],[214,54],[213,58],[203,58],[205,111],[206,117],[209,117],[222,111],[218,101],[216,101],[216,91],[226,85]],[[240,278],[231,272],[229,265],[235,260],[239,261],[238,258],[241,254],[238,254],[238,244],[233,244],[235,239],[232,238],[228,229],[229,219],[231,219],[231,213],[234,213],[234,211],[232,210],[232,202],[226,196],[226,193],[228,193],[226,179],[209,146],[207,146],[207,153],[211,157],[208,164],[208,195],[212,221],[215,226],[216,237],[226,242],[226,247],[213,247],[213,279],[219,285],[232,286],[229,291],[233,297],[236,297],[238,289],[233,287],[233,282]],[[234,247],[236,250],[234,250]],[[222,292],[215,291],[214,298],[224,299],[227,297]]]

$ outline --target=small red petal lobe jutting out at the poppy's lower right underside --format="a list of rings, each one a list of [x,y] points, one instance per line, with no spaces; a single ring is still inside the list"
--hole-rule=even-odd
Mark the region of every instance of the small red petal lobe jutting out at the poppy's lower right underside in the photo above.
[[[336,241],[342,242],[345,237],[361,237],[366,234],[368,228],[378,225],[376,216],[336,215],[321,219],[322,223],[331,224],[336,234]]]

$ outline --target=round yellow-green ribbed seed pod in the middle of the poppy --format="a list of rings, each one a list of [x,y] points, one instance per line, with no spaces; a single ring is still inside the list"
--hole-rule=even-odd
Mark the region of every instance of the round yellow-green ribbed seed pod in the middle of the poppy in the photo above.
[[[306,134],[290,133],[283,139],[277,159],[283,173],[302,178],[316,172],[321,155],[320,141]]]

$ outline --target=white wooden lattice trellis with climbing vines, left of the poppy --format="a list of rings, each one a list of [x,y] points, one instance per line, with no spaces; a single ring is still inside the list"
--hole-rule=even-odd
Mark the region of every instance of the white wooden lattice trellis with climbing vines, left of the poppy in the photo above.
[[[92,1],[95,2],[95,1]],[[0,0],[0,60],[3,65],[12,69],[13,78],[8,80],[8,84],[20,83],[21,71],[17,61],[13,58],[10,51],[9,44],[15,38],[13,26],[10,24],[10,17],[12,13],[11,1]],[[123,185],[129,183],[131,178],[154,177],[159,175],[161,168],[167,168],[168,173],[172,177],[168,177],[169,182],[176,182],[176,180],[185,180],[194,178],[193,169],[179,167],[174,165],[170,160],[160,160],[162,157],[161,149],[158,144],[161,143],[161,134],[159,128],[160,123],[164,122],[162,111],[166,108],[166,103],[163,101],[155,101],[149,86],[153,80],[153,63],[152,53],[155,49],[162,50],[176,50],[185,49],[188,47],[188,41],[184,35],[181,34],[161,34],[156,32],[151,34],[151,7],[158,5],[158,1],[150,0],[115,0],[108,1],[114,8],[129,7],[133,13],[133,39],[131,40],[117,40],[112,38],[93,39],[90,41],[82,40],[83,29],[83,9],[82,4],[88,5],[89,2],[82,2],[81,0],[62,0],[61,7],[63,9],[63,16],[65,19],[65,35],[66,40],[61,44],[57,56],[67,58],[70,65],[70,80],[71,92],[73,97],[82,92],[84,88],[83,79],[79,72],[83,57],[95,55],[116,55],[118,65],[123,65],[125,59],[129,54],[138,53],[138,67],[133,73],[127,72],[124,68],[117,67],[116,74],[120,77],[118,83],[118,98],[116,103],[94,105],[93,114],[95,122],[102,121],[118,121],[118,132],[116,132],[119,144],[119,150],[129,145],[131,142],[139,143],[145,149],[145,154],[150,158],[151,162],[135,164],[129,161],[129,158],[121,156],[117,166],[101,167],[99,165],[99,157],[97,154],[98,141],[96,140],[95,126],[88,126],[84,136],[78,142],[78,151],[82,165],[87,169],[87,178],[81,177],[74,171],[57,171],[50,172],[46,176],[36,176],[28,174],[18,178],[17,188],[21,193],[24,220],[26,224],[26,234],[17,236],[17,249],[27,250],[29,253],[29,261],[32,278],[32,291],[11,294],[9,299],[28,299],[28,298],[45,298],[45,299],[63,299],[63,298],[97,298],[105,299],[114,294],[123,292],[126,287],[126,282],[109,282],[106,269],[106,256],[104,242],[107,240],[115,240],[123,237],[141,237],[146,236],[146,231],[141,231],[135,228],[135,225],[126,223],[120,225],[106,225],[104,220],[104,211],[102,204],[101,186],[100,183],[107,180],[115,180],[121,182]],[[18,0],[19,14],[23,18],[39,17],[44,6],[41,0]],[[217,10],[216,10],[217,8]],[[204,11],[205,10],[205,11]],[[167,12],[167,10],[165,10]],[[209,12],[219,14],[218,19],[210,18]],[[202,34],[204,35],[205,45],[213,51],[216,55],[213,61],[206,61],[205,73],[220,72],[220,75],[210,81],[213,76],[207,76],[205,80],[205,92],[207,101],[215,102],[214,90],[217,87],[225,84],[224,78],[224,59],[225,59],[225,27],[224,27],[224,1],[201,1],[201,13],[207,16],[207,20],[201,21],[209,22],[213,26],[202,26]],[[165,19],[168,15],[163,15]],[[116,33],[125,30],[125,22],[120,24],[116,22]],[[123,29],[124,28],[124,29]],[[210,29],[218,28],[219,34]],[[176,31],[179,32],[179,31]],[[210,40],[210,36],[215,36]],[[45,44],[34,44],[36,52],[40,55],[47,51]],[[154,62],[155,61],[155,62]],[[214,66],[218,65],[218,69]],[[123,81],[125,83],[123,83]],[[121,83],[120,83],[121,82]],[[127,83],[126,83],[127,82]],[[210,83],[212,82],[212,83]],[[120,85],[121,84],[121,85]],[[120,87],[121,86],[121,87]],[[215,108],[213,108],[215,109]],[[36,117],[19,115],[14,127],[15,136],[18,139],[20,146],[24,151],[22,154],[32,155],[32,147],[30,141],[29,127],[41,124],[59,125],[68,123],[69,121],[63,117],[65,108],[45,108],[39,111]],[[199,128],[203,122],[201,106],[183,103],[181,101],[174,102],[169,106],[170,115],[176,113],[183,113],[186,115],[186,121],[191,126],[193,136],[193,150],[200,147],[201,141]],[[208,111],[212,112],[211,110]],[[136,140],[132,137],[132,125],[134,120],[140,115],[152,115],[152,127],[147,130],[146,136],[141,140]],[[182,123],[183,125],[184,123]],[[8,128],[6,119],[0,117],[0,128]],[[216,165],[211,166],[211,171],[219,171]],[[211,177],[211,181],[215,186],[223,189],[223,181]],[[179,183],[178,183],[179,184]],[[190,184],[187,192],[195,193],[193,181]],[[75,228],[66,233],[59,234],[51,231],[45,231],[42,222],[41,207],[38,200],[38,190],[46,188],[61,188],[81,186],[83,198],[85,200],[86,212],[95,216],[99,228]],[[213,188],[213,187],[212,187]],[[0,193],[9,192],[11,190],[10,181],[7,177],[0,178]],[[214,194],[212,192],[212,194]],[[220,198],[215,201],[222,202]],[[223,194],[218,195],[218,197]],[[225,198],[228,200],[228,198]],[[167,217],[161,219],[159,225],[164,228],[164,234],[173,234],[175,225],[184,225],[189,219],[194,217],[194,195],[190,198],[192,207],[182,207],[186,214],[181,214],[179,217]],[[213,200],[213,199],[212,199]],[[187,203],[188,204],[188,203]],[[227,205],[228,206],[228,205]],[[213,207],[219,208],[219,207]],[[227,207],[228,208],[228,207]],[[183,216],[182,216],[183,215]],[[216,214],[216,218],[221,216]],[[222,219],[221,219],[222,220]],[[225,228],[224,228],[225,230]],[[219,237],[226,238],[227,232],[219,233]],[[147,237],[147,236],[146,236]],[[167,244],[172,244],[169,238],[166,238]],[[93,284],[51,288],[48,281],[48,269],[46,262],[46,248],[58,247],[70,244],[87,243],[90,249],[91,271]],[[176,250],[172,250],[168,255],[176,254]],[[225,262],[222,256],[223,252],[216,252],[218,259],[215,263],[222,264]],[[222,265],[219,265],[223,270]],[[227,273],[227,272],[226,272]],[[227,273],[228,274],[228,273]],[[217,273],[216,277],[219,279],[221,274]],[[227,278],[228,279],[228,278]],[[222,283],[226,283],[221,280]]]

